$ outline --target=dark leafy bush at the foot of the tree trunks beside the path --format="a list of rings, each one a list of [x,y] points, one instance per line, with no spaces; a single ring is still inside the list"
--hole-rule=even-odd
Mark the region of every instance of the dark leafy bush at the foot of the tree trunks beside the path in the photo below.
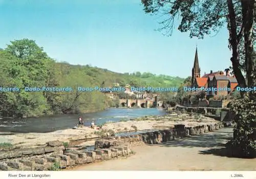
[[[233,155],[246,158],[256,157],[256,94],[249,93],[244,98],[231,102],[231,110],[236,117],[233,139],[228,147]]]

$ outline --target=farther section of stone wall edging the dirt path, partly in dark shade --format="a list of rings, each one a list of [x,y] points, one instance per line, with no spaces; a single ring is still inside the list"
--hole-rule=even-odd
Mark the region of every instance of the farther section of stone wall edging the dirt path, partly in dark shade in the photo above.
[[[201,133],[218,130],[222,127],[232,126],[232,122],[219,122],[215,124],[199,125],[185,127],[185,125],[175,125],[174,129],[169,130],[159,130],[155,132],[146,132],[138,135],[115,137],[116,141],[122,144],[137,145],[137,144],[159,144],[162,142],[167,142],[170,140],[175,140],[179,138],[200,135]],[[113,139],[112,139],[113,141]],[[99,140],[95,142],[95,147],[97,148],[108,148],[109,140]],[[113,143],[113,145],[118,145],[118,142]]]

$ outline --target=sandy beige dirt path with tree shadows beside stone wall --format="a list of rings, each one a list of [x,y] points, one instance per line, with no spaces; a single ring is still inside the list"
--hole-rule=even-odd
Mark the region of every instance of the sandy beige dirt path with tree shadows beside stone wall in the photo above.
[[[133,148],[127,159],[87,164],[72,170],[256,170],[256,159],[227,158],[225,144],[232,128],[222,128],[161,145]],[[221,156],[222,155],[222,156]]]

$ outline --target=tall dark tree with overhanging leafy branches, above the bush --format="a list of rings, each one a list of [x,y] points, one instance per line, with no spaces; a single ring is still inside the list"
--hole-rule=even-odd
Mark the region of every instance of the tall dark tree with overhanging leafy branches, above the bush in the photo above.
[[[181,17],[178,30],[189,32],[189,37],[204,38],[218,32],[225,24],[229,30],[229,48],[232,50],[232,68],[241,87],[253,86],[252,60],[255,42],[256,3],[254,0],[142,0],[145,13],[163,13],[161,21],[165,35],[172,35],[176,17]],[[161,14],[162,15],[162,14]],[[239,54],[244,52],[244,57]],[[243,64],[244,61],[244,64]],[[244,69],[243,69],[244,66]],[[246,77],[242,71],[245,70]],[[247,82],[247,83],[246,83]]]

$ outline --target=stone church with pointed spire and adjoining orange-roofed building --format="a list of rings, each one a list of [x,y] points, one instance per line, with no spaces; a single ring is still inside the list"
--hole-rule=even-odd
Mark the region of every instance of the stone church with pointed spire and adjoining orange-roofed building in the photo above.
[[[206,74],[201,77],[201,69],[198,60],[198,51],[196,48],[194,66],[192,69],[191,87],[216,87],[216,88],[230,88],[230,91],[208,91],[207,96],[227,96],[230,95],[238,86],[237,79],[234,75],[230,75],[229,71],[218,71]]]

